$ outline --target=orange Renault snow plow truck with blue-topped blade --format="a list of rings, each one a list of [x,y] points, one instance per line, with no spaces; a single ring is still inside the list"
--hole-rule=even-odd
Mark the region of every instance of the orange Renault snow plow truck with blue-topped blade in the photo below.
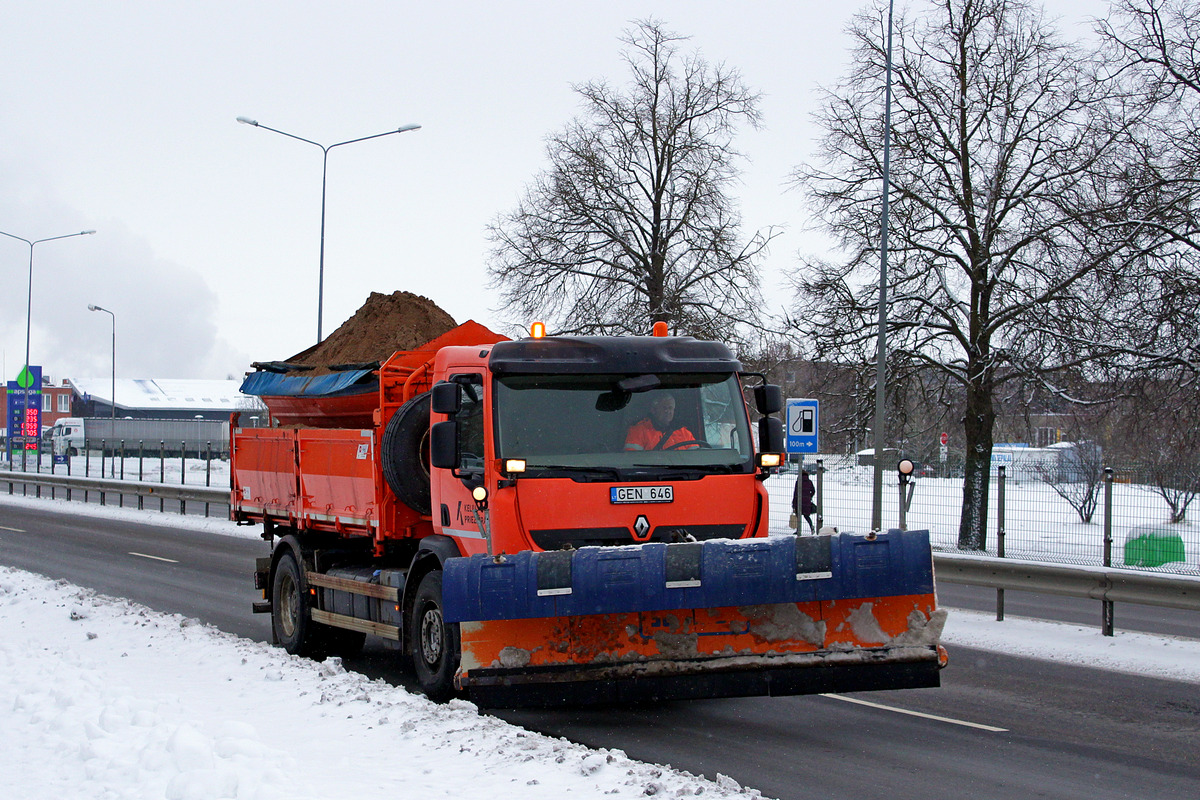
[[[251,373],[275,427],[234,419],[288,652],[382,637],[485,706],[938,685],[928,533],[768,536],[780,391],[725,345],[468,321],[354,367]]]

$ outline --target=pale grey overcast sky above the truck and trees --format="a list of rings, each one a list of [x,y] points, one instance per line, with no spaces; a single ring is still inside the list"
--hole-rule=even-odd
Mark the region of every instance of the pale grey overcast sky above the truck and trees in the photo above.
[[[899,5],[899,4],[898,4]],[[8,0],[0,47],[0,230],[34,253],[30,360],[126,378],[240,377],[316,341],[322,154],[332,144],[328,335],[371,291],[422,294],[500,327],[485,227],[546,166],[571,85],[625,80],[618,37],[656,16],[763,92],[736,196],[745,229],[786,229],[766,261],[773,311],[815,240],[786,191],[811,157],[818,85],[845,72],[858,2],[316,2]],[[1104,0],[1049,0],[1072,30]],[[29,247],[0,237],[0,359],[24,361]]]

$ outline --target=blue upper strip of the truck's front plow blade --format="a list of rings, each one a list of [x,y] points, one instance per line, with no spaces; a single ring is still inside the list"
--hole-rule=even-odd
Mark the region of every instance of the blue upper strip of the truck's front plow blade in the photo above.
[[[584,547],[449,559],[446,621],[720,608],[934,591],[928,530]]]

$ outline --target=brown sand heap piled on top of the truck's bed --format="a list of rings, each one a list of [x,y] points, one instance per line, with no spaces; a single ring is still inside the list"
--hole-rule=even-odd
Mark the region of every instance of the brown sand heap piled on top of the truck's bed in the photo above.
[[[454,318],[428,297],[410,291],[372,291],[362,307],[324,342],[288,359],[288,363],[323,367],[384,361],[396,350],[413,350],[455,326]]]

